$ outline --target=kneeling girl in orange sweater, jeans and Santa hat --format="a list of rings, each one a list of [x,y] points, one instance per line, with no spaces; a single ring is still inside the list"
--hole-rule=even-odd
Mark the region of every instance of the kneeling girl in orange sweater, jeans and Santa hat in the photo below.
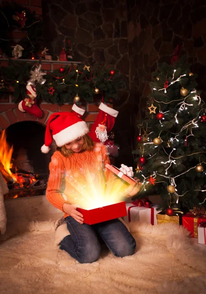
[[[79,196],[76,194],[75,185],[81,184],[87,188],[87,171],[95,175],[102,169],[102,165],[109,163],[106,147],[93,143],[88,132],[87,124],[77,113],[54,113],[47,122],[45,145],[42,147],[42,152],[47,153],[52,137],[58,146],[49,164],[46,197],[51,204],[65,213],[64,218],[70,235],[62,240],[60,248],[79,263],[92,263],[99,258],[99,239],[119,257],[134,254],[136,248],[135,239],[118,219],[88,225],[84,223],[83,215],[76,210],[75,199]],[[107,181],[114,179],[112,172],[104,170]],[[67,199],[61,193],[63,185]],[[137,194],[139,186],[139,183],[135,188],[127,186],[125,196]]]

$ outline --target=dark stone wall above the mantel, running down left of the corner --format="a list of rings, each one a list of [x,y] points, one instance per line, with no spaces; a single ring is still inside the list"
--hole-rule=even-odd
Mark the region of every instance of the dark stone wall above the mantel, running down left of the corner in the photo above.
[[[116,164],[132,165],[126,0],[43,0],[42,8],[45,46],[52,55],[59,55],[68,37],[75,62],[98,63],[123,73],[127,91],[120,91],[114,101],[119,111],[114,127],[115,143],[120,145]]]

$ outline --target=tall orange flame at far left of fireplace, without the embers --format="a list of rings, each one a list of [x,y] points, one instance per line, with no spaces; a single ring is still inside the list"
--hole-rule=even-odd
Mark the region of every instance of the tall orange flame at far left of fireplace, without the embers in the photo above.
[[[12,168],[11,163],[11,156],[13,153],[13,146],[9,146],[6,142],[6,133],[5,130],[2,131],[0,136],[0,162],[3,165],[3,168],[0,167],[0,170],[3,174],[3,176],[11,180],[13,179],[15,182],[17,181],[16,176],[10,171]]]

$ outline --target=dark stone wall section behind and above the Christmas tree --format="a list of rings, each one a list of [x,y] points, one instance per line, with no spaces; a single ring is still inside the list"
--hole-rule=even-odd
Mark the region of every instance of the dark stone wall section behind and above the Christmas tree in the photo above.
[[[198,89],[206,98],[206,1],[128,0],[128,45],[131,99],[138,118],[150,92],[158,62],[170,64],[174,49],[183,45],[191,72],[199,75]],[[137,98],[138,97],[138,98]]]

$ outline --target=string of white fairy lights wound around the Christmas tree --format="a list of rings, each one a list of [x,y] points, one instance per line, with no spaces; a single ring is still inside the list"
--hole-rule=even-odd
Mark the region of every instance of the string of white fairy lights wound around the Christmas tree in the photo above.
[[[171,85],[173,85],[174,83],[177,83],[177,82],[181,82],[181,78],[183,76],[186,76],[186,74],[183,74],[183,75],[180,75],[177,79],[174,80],[174,76],[175,76],[175,72],[176,70],[174,70],[173,72],[173,76],[172,76],[172,81],[170,82],[170,84],[168,84],[168,81],[167,81],[167,78],[166,78],[166,82],[164,83],[164,88],[161,88],[161,89],[156,89],[156,88],[153,88],[152,89],[152,93],[155,92],[155,91],[163,91],[164,93],[167,93],[167,88],[169,88]],[[189,73],[189,75],[192,75],[193,73]],[[159,80],[159,78],[157,78],[157,80]],[[182,83],[181,83],[182,85]],[[183,96],[183,98],[180,98],[180,99],[175,99],[175,100],[171,100],[169,102],[165,102],[165,101],[158,101],[157,99],[155,99],[154,97],[151,98],[151,106],[148,107],[148,109],[150,110],[150,114],[153,115],[153,113],[156,114],[156,106],[153,105],[153,101],[155,101],[156,103],[159,104],[160,106],[160,103],[164,103],[164,104],[170,104],[172,102],[179,102],[177,103],[177,111],[175,113],[175,123],[179,123],[179,120],[178,120],[178,115],[183,111],[183,110],[187,110],[188,107],[191,107],[193,106],[193,103],[190,103],[188,102],[187,98],[191,98],[191,95],[192,95],[192,98],[194,100],[195,103],[197,103],[197,105],[200,105],[201,102],[203,103],[203,105],[205,104],[205,102],[200,98],[200,95],[197,94],[197,90],[196,89],[193,89],[190,91],[190,93],[188,92],[187,89],[184,89],[183,86],[182,86],[182,89],[180,91],[180,94],[181,96]],[[199,119],[201,118],[201,122],[206,122],[206,116],[205,116],[205,112],[206,110],[203,108],[203,105],[202,105],[202,108],[201,110],[198,112],[197,116],[195,118],[193,118],[192,120],[188,121],[187,123],[185,123],[183,125],[183,127],[181,128],[181,130],[179,131],[179,133],[171,133],[171,135],[173,137],[171,137],[167,143],[167,147],[172,147],[172,150],[169,152],[169,154],[167,153],[167,151],[165,150],[165,148],[161,145],[161,143],[163,142],[160,138],[160,134],[157,138],[155,138],[153,140],[153,142],[145,142],[142,144],[143,148],[140,147],[140,154],[141,154],[141,157],[139,158],[139,163],[137,164],[137,173],[138,172],[142,172],[141,176],[143,178],[143,181],[142,181],[142,186],[140,187],[140,192],[141,191],[146,191],[146,185],[148,184],[157,184],[157,183],[161,183],[161,182],[164,182],[167,184],[167,191],[169,193],[169,196],[170,196],[170,203],[168,203],[168,206],[170,207],[171,205],[171,195],[170,194],[173,194],[175,197],[176,197],[176,203],[179,202],[179,197],[183,197],[186,193],[188,193],[189,191],[186,191],[183,195],[180,195],[178,193],[178,190],[177,190],[177,184],[176,184],[176,179],[180,176],[182,176],[183,174],[195,169],[196,172],[203,172],[204,171],[204,167],[202,166],[202,164],[206,164],[206,162],[203,160],[201,162],[200,160],[200,163],[198,165],[195,165],[195,166],[192,166],[191,168],[189,168],[187,171],[184,171],[184,172],[181,172],[180,174],[176,175],[176,176],[172,176],[172,175],[168,175],[168,170],[173,166],[173,165],[176,165],[176,160],[177,159],[180,159],[184,156],[192,156],[192,155],[196,155],[196,154],[200,154],[200,155],[203,155],[203,153],[206,153],[205,151],[200,151],[200,152],[195,152],[195,153],[192,153],[192,154],[188,154],[188,155],[183,155],[183,156],[180,156],[180,157],[174,157],[173,156],[173,152],[176,150],[175,147],[173,147],[173,143],[175,141],[179,142],[179,139],[178,139],[178,136],[180,136],[180,134],[186,130],[186,137],[185,137],[185,146],[187,146],[187,138],[190,137],[190,136],[194,136],[194,134],[192,133],[192,129],[193,128],[198,128],[199,125],[198,125],[198,122],[199,122]],[[157,114],[157,118],[160,120],[160,124],[161,126],[163,126],[163,124],[161,123],[161,120],[164,120],[164,116],[168,114],[169,111],[166,111],[166,112],[162,112],[160,111],[158,114]],[[203,116],[200,116],[201,112],[203,113]],[[139,127],[141,128],[143,125],[139,125]],[[187,131],[188,129],[190,130],[190,133],[187,134]],[[142,138],[140,136],[140,133],[141,133],[141,129],[139,131],[139,136],[137,137],[137,142],[141,142]],[[147,135],[147,140],[146,141],[150,141],[149,139],[149,135],[151,135],[153,132],[150,132],[148,135]],[[161,133],[161,132],[160,132]],[[147,126],[146,126],[146,129],[144,129],[144,135],[143,135],[143,138],[145,139],[145,134],[147,134]],[[145,141],[145,140],[143,140]],[[163,165],[166,165],[166,168],[165,168],[165,174],[162,174],[162,173],[158,173],[157,171],[153,171],[150,173],[149,176],[145,176],[143,174],[143,171],[142,171],[142,167],[140,167],[140,164],[144,164],[145,163],[145,158],[143,157],[144,155],[144,146],[146,145],[154,145],[155,148],[159,147],[161,145],[162,147],[162,150],[164,151],[164,153],[166,154],[166,156],[168,156],[168,160],[167,161],[161,161],[161,164]],[[158,152],[157,152],[158,153]],[[149,159],[151,159],[152,157],[154,157],[157,153],[155,153],[154,155],[150,155]],[[149,160],[148,159],[148,160]],[[166,179],[165,181],[162,180],[160,182],[156,182],[156,177],[160,176],[164,179]],[[168,181],[169,181],[169,185],[168,185]],[[200,192],[206,192],[206,190],[194,190],[194,191],[200,191]],[[205,198],[206,200],[206,198]],[[205,200],[200,203],[200,204],[203,204],[205,202]]]

